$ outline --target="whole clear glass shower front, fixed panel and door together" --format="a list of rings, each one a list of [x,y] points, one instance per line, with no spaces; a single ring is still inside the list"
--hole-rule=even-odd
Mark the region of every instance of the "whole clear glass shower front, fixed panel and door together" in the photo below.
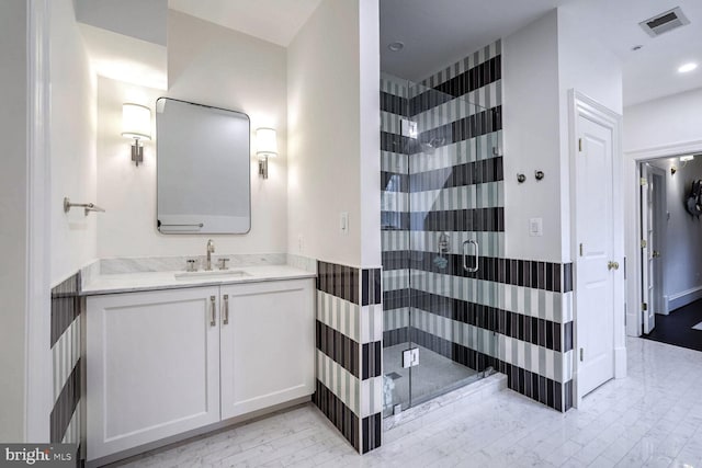
[[[498,107],[393,77],[381,88],[387,416],[495,365],[503,202]]]

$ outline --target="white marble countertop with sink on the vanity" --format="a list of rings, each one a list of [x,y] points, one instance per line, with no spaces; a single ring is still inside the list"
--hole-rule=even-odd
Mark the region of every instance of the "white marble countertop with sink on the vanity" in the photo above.
[[[316,277],[315,273],[290,265],[237,266],[228,272],[227,274],[227,272],[218,270],[213,272],[201,271],[199,273],[202,276],[193,275],[186,277],[177,277],[177,275],[185,273],[183,271],[97,274],[83,284],[81,295],[94,296],[100,294]],[[236,274],[236,272],[242,272],[242,274]]]

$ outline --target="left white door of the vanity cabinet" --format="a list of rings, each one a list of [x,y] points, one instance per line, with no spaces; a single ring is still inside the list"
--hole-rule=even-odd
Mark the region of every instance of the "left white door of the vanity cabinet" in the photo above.
[[[88,298],[89,460],[219,421],[218,296],[207,287]]]

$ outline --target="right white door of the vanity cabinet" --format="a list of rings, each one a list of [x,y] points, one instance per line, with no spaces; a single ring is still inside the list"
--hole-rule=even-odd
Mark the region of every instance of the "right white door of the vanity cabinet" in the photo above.
[[[222,419],[312,395],[313,281],[223,286],[220,299]]]

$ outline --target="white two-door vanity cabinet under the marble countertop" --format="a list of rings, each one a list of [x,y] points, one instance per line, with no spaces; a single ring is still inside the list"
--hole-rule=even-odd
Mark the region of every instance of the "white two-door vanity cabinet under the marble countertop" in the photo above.
[[[87,298],[88,461],[314,392],[314,281]]]

